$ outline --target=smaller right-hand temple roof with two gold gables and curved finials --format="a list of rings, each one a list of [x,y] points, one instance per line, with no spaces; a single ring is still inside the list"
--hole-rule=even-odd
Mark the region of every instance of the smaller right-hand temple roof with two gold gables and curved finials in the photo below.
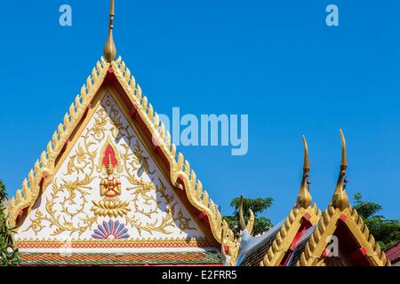
[[[340,173],[332,201],[322,214],[311,206],[308,145],[304,143],[303,177],[298,199],[288,217],[267,233],[252,237],[243,227],[239,252],[231,264],[243,266],[390,265],[362,217],[348,203],[347,151],[343,131]],[[330,256],[332,236],[340,239],[339,252]],[[343,259],[342,259],[343,258]]]

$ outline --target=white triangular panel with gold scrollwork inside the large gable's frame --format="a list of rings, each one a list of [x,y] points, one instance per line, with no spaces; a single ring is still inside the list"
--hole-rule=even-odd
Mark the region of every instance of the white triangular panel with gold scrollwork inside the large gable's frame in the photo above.
[[[99,98],[17,241],[206,241],[116,96],[105,89]]]

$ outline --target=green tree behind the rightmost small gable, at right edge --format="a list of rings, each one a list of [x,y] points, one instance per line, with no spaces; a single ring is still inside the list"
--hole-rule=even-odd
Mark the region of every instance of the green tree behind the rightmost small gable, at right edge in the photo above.
[[[354,208],[358,215],[363,217],[364,224],[368,226],[375,241],[378,241],[383,250],[400,241],[400,219],[389,220],[382,215],[377,215],[382,209],[380,204],[372,201],[363,201],[363,195],[354,195]]]

